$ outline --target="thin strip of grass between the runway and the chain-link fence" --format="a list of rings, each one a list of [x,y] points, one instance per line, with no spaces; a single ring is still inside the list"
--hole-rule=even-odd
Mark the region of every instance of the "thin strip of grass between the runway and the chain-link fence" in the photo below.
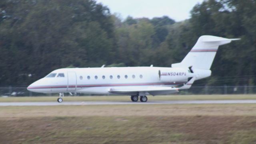
[[[58,96],[0,97],[0,102],[55,102]],[[154,100],[255,100],[254,94],[238,95],[171,95],[148,96]],[[64,96],[64,101],[130,101],[130,96]]]

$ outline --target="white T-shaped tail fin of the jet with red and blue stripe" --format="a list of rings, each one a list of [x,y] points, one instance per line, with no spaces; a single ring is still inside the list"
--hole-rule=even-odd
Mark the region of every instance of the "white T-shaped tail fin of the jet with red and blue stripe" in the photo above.
[[[186,57],[180,63],[172,64],[172,67],[188,68],[193,66],[196,69],[210,70],[212,62],[218,50],[218,47],[223,44],[228,44],[232,40],[217,36],[200,36],[195,46],[188,52]]]

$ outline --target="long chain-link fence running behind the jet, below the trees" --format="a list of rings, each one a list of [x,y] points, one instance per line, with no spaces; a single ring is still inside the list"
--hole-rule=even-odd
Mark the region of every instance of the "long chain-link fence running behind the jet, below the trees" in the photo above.
[[[189,94],[256,94],[256,86],[192,86],[188,90],[180,90],[182,95]],[[0,96],[52,96],[58,94],[43,94],[30,92],[26,87],[0,87]],[[66,94],[67,95],[67,94]],[[75,96],[88,94],[73,93]]]

